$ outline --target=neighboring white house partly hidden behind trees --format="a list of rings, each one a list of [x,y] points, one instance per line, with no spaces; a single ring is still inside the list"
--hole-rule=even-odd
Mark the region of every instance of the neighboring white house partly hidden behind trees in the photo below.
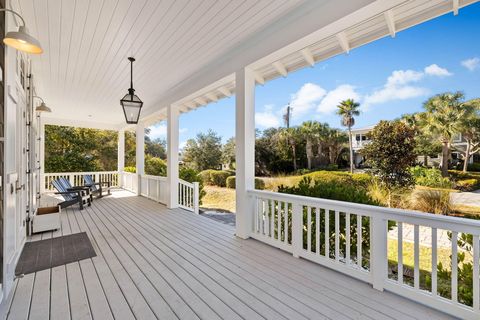
[[[355,163],[355,167],[359,168],[362,167],[365,162],[365,157],[362,155],[361,150],[364,146],[371,142],[369,137],[369,132],[373,130],[375,125],[362,127],[358,129],[352,129],[352,147],[353,147],[353,160]],[[465,149],[467,146],[467,142],[462,137],[462,134],[456,134],[452,139],[452,146],[456,149]],[[461,160],[460,152],[456,151],[455,148],[451,150],[451,157],[452,160]],[[428,165],[434,166],[440,163],[440,155],[437,157],[428,157]],[[469,162],[478,162],[480,161],[480,152],[472,154],[470,156]],[[418,162],[424,162],[423,156],[418,157]]]

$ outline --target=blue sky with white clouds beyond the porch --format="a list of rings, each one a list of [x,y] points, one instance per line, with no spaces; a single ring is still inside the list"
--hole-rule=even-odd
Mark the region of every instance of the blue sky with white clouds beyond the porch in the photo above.
[[[290,103],[293,125],[318,120],[340,127],[335,106],[354,98],[361,104],[360,128],[420,111],[431,95],[456,90],[480,97],[480,3],[257,85],[255,125],[283,125]],[[208,129],[226,141],[235,134],[234,97],[182,114],[180,128],[181,146]],[[165,134],[165,123],[151,127],[152,138]]]

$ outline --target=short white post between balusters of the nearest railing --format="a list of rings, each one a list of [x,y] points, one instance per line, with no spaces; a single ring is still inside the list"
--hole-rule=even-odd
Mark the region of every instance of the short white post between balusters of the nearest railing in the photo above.
[[[370,272],[374,289],[383,291],[388,271],[387,220],[370,217]]]

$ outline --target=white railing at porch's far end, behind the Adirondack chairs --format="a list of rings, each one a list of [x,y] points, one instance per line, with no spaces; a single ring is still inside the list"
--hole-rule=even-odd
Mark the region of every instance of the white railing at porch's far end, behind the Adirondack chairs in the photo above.
[[[112,187],[118,186],[117,171],[96,171],[96,172],[62,172],[62,173],[44,173],[42,176],[41,192],[53,192],[55,188],[52,181],[60,177],[66,178],[73,186],[84,184],[83,177],[91,175],[95,182],[110,181]]]

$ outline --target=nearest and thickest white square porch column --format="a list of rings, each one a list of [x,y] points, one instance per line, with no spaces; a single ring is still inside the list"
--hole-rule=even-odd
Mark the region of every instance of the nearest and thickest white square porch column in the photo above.
[[[236,235],[250,237],[255,188],[255,77],[249,69],[235,73]]]

